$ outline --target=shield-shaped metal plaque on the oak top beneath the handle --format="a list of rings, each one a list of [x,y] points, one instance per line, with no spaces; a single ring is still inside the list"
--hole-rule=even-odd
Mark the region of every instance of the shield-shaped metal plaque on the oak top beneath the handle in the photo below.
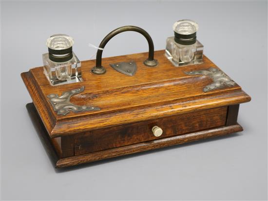
[[[137,70],[137,65],[133,60],[129,62],[110,63],[110,66],[116,71],[129,76],[134,76]]]

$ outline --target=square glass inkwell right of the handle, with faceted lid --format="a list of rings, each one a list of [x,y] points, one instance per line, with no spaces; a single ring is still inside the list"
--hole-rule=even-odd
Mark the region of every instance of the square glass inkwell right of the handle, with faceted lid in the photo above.
[[[198,24],[179,20],[173,24],[174,36],[167,39],[166,57],[174,66],[203,63],[204,46],[196,40]]]

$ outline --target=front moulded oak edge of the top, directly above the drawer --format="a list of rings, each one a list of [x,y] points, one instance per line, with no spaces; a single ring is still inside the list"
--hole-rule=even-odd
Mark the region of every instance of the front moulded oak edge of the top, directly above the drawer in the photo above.
[[[242,90],[237,90],[229,93],[161,102],[123,111],[114,111],[109,114],[98,114],[85,116],[83,118],[57,121],[50,136],[66,136],[99,128],[107,128],[138,121],[148,121],[203,109],[240,104],[248,101],[250,101],[249,95]]]

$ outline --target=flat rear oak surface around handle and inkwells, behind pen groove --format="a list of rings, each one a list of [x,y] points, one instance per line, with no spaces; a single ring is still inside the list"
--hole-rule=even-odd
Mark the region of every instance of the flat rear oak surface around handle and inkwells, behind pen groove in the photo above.
[[[189,78],[192,76],[185,74],[185,71],[217,67],[206,56],[203,57],[204,63],[202,64],[175,67],[165,57],[164,53],[164,50],[158,50],[154,52],[154,58],[159,62],[158,66],[156,67],[148,67],[143,64],[143,61],[148,58],[147,52],[103,58],[102,65],[106,68],[107,71],[102,75],[95,75],[91,72],[91,68],[95,66],[96,60],[81,61],[82,78],[84,81],[72,84],[64,84],[60,86],[50,86],[45,75],[43,74],[43,67],[33,68],[31,69],[31,72],[36,78],[38,85],[41,86],[44,94],[60,93],[64,90],[78,88],[83,85],[86,86],[86,91],[94,93],[97,91],[110,90],[152,82]],[[134,76],[121,74],[115,71],[109,65],[110,63],[130,60],[134,60],[137,64],[137,71]]]

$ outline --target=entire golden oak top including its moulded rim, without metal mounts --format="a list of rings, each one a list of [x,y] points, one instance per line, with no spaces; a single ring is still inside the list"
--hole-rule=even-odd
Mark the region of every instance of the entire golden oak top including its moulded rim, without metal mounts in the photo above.
[[[52,138],[250,101],[237,84],[204,93],[203,88],[211,79],[185,74],[185,71],[217,68],[205,56],[203,64],[174,67],[164,56],[164,50],[155,51],[154,55],[159,61],[156,67],[143,64],[148,53],[104,58],[107,72],[103,75],[91,73],[95,60],[82,61],[84,81],[67,85],[50,86],[42,67],[22,73],[21,77]],[[120,74],[109,65],[128,60],[137,63],[133,77]],[[95,105],[101,110],[57,115],[47,95],[61,95],[63,91],[80,86],[85,86],[85,91],[71,101],[78,105]]]

